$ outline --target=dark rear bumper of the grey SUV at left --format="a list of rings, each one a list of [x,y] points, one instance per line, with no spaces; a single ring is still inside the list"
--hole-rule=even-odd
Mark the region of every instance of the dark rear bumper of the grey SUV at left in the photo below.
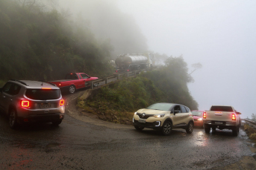
[[[54,122],[58,120],[63,120],[64,114],[55,113],[55,114],[40,114],[40,115],[29,115],[28,117],[18,117],[18,122]]]

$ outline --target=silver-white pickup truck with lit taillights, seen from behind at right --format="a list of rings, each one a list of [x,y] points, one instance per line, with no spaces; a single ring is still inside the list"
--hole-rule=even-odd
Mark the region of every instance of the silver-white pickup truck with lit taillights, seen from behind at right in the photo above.
[[[234,136],[239,133],[239,127],[241,125],[240,112],[234,110],[229,105],[212,105],[210,111],[205,111],[203,114],[203,121],[205,127],[205,133],[216,131],[216,128],[230,129]]]

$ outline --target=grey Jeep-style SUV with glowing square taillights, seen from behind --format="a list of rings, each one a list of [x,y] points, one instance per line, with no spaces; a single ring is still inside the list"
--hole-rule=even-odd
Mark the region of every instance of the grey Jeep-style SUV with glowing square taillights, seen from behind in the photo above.
[[[0,109],[7,114],[10,128],[26,122],[60,125],[65,113],[60,88],[31,80],[12,79],[0,88]]]

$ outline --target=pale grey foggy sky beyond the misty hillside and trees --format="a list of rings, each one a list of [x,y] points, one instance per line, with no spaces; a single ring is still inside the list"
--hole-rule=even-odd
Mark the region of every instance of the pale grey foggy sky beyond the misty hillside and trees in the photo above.
[[[138,49],[147,48],[168,56],[182,55],[190,71],[193,71],[192,64],[202,64],[201,69],[191,74],[195,82],[189,84],[199,110],[208,110],[210,105],[232,105],[243,118],[256,113],[253,108],[256,103],[256,1],[108,2],[133,17],[134,27],[143,34],[138,35],[137,41],[147,44]],[[60,6],[71,13],[86,13],[87,3],[59,1]],[[91,10],[100,12],[100,9]],[[115,13],[113,17],[119,19]]]

